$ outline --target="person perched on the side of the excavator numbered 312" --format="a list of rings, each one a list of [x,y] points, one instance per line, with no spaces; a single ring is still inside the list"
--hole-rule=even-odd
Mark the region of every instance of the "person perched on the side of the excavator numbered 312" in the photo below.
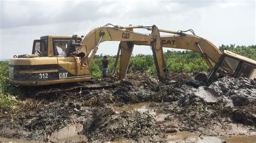
[[[81,46],[82,38],[79,38],[78,35],[72,35],[72,39],[70,40],[67,48],[66,48],[66,56],[73,56],[76,55],[81,58],[81,67],[85,67],[84,62],[85,62],[85,53],[84,52],[79,52],[77,51],[77,48]]]

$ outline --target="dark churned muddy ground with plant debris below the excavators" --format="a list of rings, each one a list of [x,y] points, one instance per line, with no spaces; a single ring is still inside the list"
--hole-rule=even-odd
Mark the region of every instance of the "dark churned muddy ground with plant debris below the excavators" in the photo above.
[[[58,141],[67,127],[88,141],[163,141],[180,131],[256,134],[255,80],[224,77],[198,87],[188,82],[194,75],[171,73],[166,83],[136,73],[124,80],[22,87],[18,108],[0,112],[0,137]]]

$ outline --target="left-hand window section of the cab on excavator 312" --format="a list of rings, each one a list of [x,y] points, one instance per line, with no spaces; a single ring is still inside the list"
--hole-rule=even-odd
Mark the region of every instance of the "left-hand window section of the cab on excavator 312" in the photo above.
[[[41,54],[42,56],[48,56],[48,48],[46,47],[45,40],[34,40],[32,54]]]

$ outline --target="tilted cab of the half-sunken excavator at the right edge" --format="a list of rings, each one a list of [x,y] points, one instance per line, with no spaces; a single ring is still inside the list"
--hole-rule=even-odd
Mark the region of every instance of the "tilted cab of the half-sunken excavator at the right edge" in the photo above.
[[[227,63],[230,65],[230,70],[228,71],[223,68]],[[256,62],[254,60],[225,50],[220,56],[219,61],[215,64],[211,73],[208,75],[207,81],[211,83],[212,81],[224,76],[254,79],[256,78],[255,68]]]

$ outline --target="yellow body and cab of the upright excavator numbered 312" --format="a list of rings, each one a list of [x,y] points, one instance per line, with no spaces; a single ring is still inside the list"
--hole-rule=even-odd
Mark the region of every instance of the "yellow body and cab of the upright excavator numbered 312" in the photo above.
[[[66,56],[71,38],[47,35],[34,40],[32,54],[9,60],[10,83],[37,86],[90,80],[89,67],[80,67],[79,57]]]

